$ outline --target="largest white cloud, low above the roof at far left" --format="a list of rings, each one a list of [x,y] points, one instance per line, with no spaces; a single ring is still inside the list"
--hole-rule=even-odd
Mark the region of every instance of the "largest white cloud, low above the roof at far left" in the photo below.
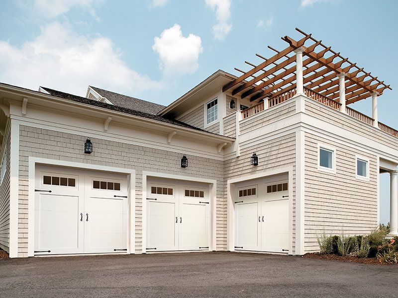
[[[137,94],[162,83],[131,70],[104,37],[79,35],[58,22],[21,47],[0,40],[0,81],[38,89],[39,85],[85,95],[88,85]]]

